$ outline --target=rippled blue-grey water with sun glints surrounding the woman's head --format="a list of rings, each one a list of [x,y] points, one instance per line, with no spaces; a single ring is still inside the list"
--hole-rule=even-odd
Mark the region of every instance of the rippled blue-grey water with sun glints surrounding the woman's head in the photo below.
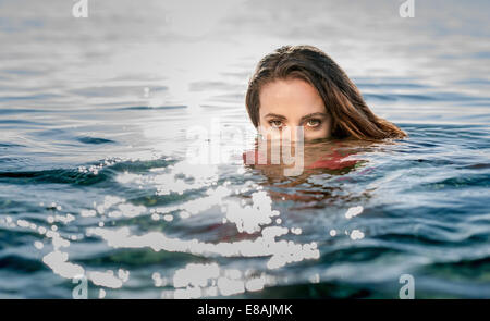
[[[486,1],[99,2],[0,3],[0,297],[490,297]],[[285,44],[409,137],[246,164],[248,76]]]

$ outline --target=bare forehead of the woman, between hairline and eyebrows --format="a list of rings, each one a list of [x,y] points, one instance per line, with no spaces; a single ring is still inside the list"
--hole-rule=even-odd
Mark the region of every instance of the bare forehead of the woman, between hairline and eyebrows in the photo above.
[[[278,79],[262,86],[259,92],[260,115],[278,113],[302,116],[324,112],[323,100],[317,89],[298,78]]]

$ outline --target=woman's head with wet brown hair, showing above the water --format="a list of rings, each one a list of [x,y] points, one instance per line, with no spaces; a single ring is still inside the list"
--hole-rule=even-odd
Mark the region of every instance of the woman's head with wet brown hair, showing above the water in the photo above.
[[[376,116],[345,72],[313,46],[284,46],[264,57],[248,83],[246,107],[259,131],[301,126],[305,140],[407,136]]]

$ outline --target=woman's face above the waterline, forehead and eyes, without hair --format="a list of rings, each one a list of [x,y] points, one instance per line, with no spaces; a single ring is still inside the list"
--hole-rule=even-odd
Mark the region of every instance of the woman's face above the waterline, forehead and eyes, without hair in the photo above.
[[[302,126],[305,140],[331,136],[331,116],[309,83],[298,78],[273,81],[264,85],[259,99],[259,131],[280,136],[291,129],[291,140],[296,140],[294,129]]]

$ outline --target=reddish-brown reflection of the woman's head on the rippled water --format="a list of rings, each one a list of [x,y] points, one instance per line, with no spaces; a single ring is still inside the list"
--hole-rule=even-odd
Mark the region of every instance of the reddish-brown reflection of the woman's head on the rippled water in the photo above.
[[[247,168],[265,176],[267,181],[260,186],[269,187],[269,196],[277,201],[294,201],[294,209],[313,207],[324,208],[334,201],[345,202],[350,195],[342,196],[342,187],[315,184],[311,178],[318,175],[336,177],[338,181],[354,182],[346,174],[357,171],[356,175],[364,175],[371,171],[368,162],[360,156],[370,150],[382,151],[382,145],[392,145],[393,141],[372,143],[357,139],[306,141],[296,146],[294,143],[281,141],[261,143],[257,139],[254,150],[244,153]],[[266,145],[265,148],[259,147]],[[287,149],[291,157],[287,163],[281,158]],[[301,149],[301,152],[297,151]],[[277,162],[274,162],[274,158]],[[252,161],[249,161],[252,160]],[[299,163],[299,165],[298,165]],[[287,170],[296,169],[294,175]],[[323,176],[324,176],[323,175]]]

